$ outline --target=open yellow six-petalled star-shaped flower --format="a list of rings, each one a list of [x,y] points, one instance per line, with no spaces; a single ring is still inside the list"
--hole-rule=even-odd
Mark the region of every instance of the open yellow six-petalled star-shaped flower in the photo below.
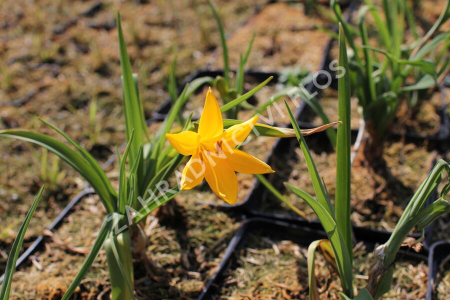
[[[198,185],[203,177],[212,191],[230,204],[237,199],[235,172],[246,174],[271,173],[265,162],[234,148],[245,140],[258,117],[233,125],[223,131],[220,107],[211,88],[206,93],[198,132],[167,133],[170,144],[183,155],[192,155],[181,175],[181,190]]]

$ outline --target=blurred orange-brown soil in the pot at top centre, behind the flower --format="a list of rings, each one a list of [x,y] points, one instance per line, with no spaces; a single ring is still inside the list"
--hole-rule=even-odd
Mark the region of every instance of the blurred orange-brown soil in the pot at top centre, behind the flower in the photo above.
[[[322,6],[329,10],[328,5]],[[330,39],[329,34],[315,26],[332,28],[333,23],[316,9],[306,14],[303,3],[272,3],[252,16],[228,39],[231,68],[239,62],[253,32],[255,38],[247,66],[259,70],[281,70],[299,65],[308,70],[321,67],[323,51]],[[221,51],[216,53],[214,66],[221,67]]]

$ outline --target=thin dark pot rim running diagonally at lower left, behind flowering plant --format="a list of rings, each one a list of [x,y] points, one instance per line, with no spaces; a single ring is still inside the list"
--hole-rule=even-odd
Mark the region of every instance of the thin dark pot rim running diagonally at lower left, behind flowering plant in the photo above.
[[[53,221],[51,222],[51,224],[46,227],[45,229],[47,230],[54,230],[56,229],[62,222],[62,220],[70,214],[70,212],[73,210],[73,206],[75,206],[75,204],[77,204],[82,198],[84,198],[87,195],[93,194],[94,190],[92,188],[90,188],[88,185],[85,186],[85,188],[78,192],[73,199],[64,207],[64,209],[61,210],[61,212],[59,212],[59,214],[53,219]],[[19,266],[20,264],[22,264],[25,260],[28,259],[28,256],[33,254],[34,251],[36,251],[41,244],[44,241],[45,236],[43,234],[37,236],[37,238],[33,241],[33,243],[26,248],[26,250],[17,258],[17,261],[15,263],[15,267]],[[3,277],[4,274],[1,275],[0,277],[0,284],[1,282],[3,282]]]

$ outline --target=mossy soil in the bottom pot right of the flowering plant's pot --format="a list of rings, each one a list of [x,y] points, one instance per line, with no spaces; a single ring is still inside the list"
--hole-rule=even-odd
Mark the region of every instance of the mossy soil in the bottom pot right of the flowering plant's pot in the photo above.
[[[246,246],[235,253],[224,274],[220,299],[307,299],[307,247],[276,236],[250,234]],[[324,257],[316,254],[315,276],[321,299],[340,299],[340,282]],[[354,248],[354,284],[366,284],[372,254],[365,246]],[[391,290],[382,299],[422,299],[426,293],[424,262],[395,263]]]

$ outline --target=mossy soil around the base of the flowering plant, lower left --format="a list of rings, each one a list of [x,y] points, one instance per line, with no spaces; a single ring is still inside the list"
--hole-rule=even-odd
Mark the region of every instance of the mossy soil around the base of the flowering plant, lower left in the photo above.
[[[182,193],[143,224],[145,255],[134,255],[135,291],[146,299],[194,299],[215,271],[239,225],[235,217],[188,201]],[[10,299],[59,299],[83,262],[104,218],[97,196],[81,200],[14,274]],[[106,257],[100,251],[75,298],[108,299]]]

